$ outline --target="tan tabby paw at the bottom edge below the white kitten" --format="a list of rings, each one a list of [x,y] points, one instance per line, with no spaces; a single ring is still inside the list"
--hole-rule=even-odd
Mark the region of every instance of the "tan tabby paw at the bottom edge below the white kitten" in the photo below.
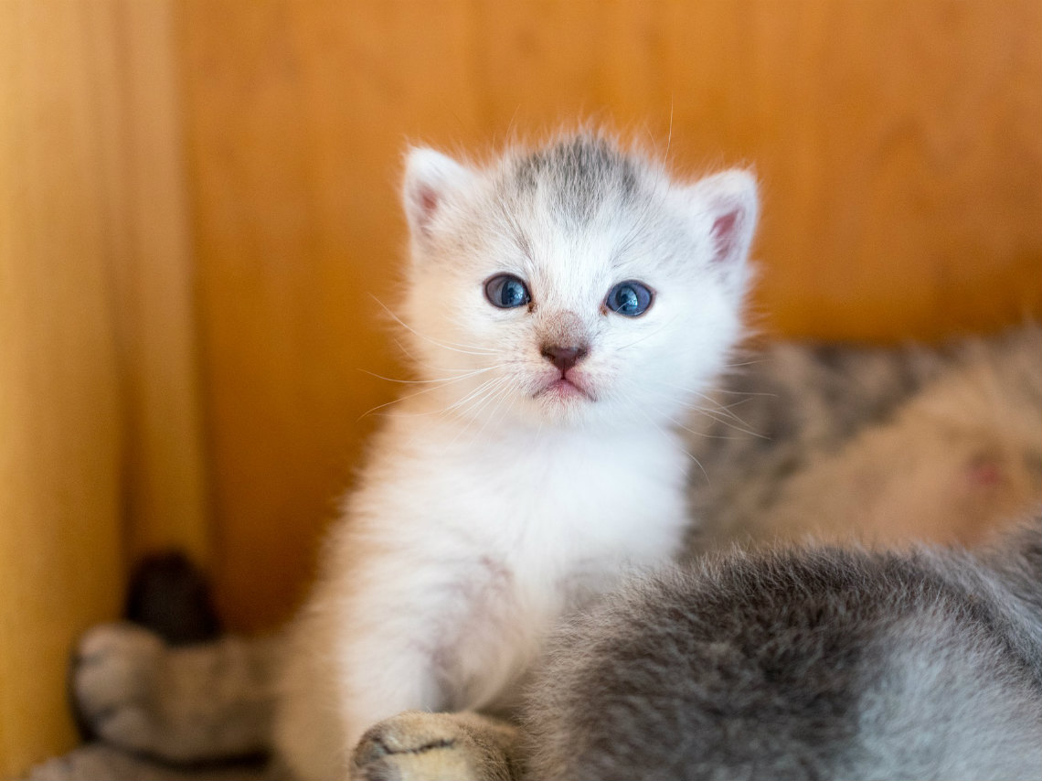
[[[372,727],[354,750],[354,781],[510,781],[515,730],[473,713],[406,711]]]

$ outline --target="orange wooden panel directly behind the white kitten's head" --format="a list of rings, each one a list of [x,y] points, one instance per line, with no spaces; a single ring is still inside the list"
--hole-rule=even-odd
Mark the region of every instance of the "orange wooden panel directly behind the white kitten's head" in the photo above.
[[[769,331],[1042,315],[1037,0],[191,0],[183,81],[226,614],[284,616],[398,372],[406,139],[591,116],[754,165]]]

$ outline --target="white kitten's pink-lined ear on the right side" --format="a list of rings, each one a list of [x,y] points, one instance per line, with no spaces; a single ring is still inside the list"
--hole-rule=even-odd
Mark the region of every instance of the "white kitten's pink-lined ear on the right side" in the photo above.
[[[744,264],[756,227],[756,180],[735,169],[695,182],[690,188],[699,230],[712,240],[713,265],[728,273]]]

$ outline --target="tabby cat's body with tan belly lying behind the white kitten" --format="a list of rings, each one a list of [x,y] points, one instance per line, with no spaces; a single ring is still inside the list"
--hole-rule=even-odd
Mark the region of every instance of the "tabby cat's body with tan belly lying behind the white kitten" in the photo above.
[[[1042,501],[1042,328],[927,348],[780,342],[688,420],[689,553],[975,545]]]

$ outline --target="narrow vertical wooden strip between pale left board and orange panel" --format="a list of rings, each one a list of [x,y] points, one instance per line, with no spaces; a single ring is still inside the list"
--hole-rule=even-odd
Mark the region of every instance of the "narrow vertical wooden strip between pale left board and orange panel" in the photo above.
[[[96,15],[107,254],[117,301],[124,512],[131,560],[179,547],[210,560],[195,268],[174,3],[118,0]],[[106,36],[107,35],[107,36]]]

